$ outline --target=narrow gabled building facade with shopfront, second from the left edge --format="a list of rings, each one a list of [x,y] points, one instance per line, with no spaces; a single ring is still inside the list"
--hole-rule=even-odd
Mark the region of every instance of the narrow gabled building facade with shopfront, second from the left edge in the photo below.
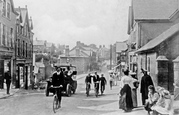
[[[33,23],[28,16],[27,6],[16,8],[16,87],[28,89],[33,77]]]

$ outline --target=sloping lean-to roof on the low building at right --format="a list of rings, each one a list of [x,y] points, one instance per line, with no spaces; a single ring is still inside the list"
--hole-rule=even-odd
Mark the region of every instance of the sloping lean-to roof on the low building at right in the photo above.
[[[174,26],[172,26],[171,28],[169,28],[168,30],[166,30],[165,32],[160,34],[158,37],[149,41],[146,45],[144,45],[142,48],[137,50],[135,53],[140,53],[140,52],[151,50],[151,49],[155,48],[160,43],[167,40],[172,35],[176,34],[178,31],[179,31],[179,24],[175,24]]]

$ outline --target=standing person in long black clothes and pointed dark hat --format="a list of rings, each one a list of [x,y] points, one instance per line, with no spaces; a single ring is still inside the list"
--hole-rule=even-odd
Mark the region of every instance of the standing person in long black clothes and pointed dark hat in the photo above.
[[[147,74],[147,70],[141,70],[144,75],[141,79],[140,93],[142,94],[142,104],[145,105],[145,100],[148,99],[148,87],[153,85],[153,81],[151,76]]]

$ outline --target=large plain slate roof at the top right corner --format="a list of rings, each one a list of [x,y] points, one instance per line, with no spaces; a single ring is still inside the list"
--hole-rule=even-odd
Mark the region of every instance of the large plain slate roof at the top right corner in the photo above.
[[[133,0],[134,19],[169,19],[178,9],[178,0]]]

